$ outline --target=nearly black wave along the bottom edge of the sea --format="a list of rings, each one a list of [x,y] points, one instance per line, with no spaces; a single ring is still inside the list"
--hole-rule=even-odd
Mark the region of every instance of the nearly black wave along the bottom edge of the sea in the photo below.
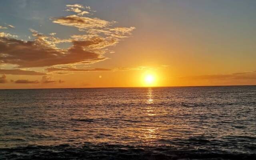
[[[255,160],[256,154],[230,153],[220,150],[186,150],[170,146],[129,146],[84,144],[71,146],[26,146],[1,148],[1,160],[88,159],[88,160]]]

